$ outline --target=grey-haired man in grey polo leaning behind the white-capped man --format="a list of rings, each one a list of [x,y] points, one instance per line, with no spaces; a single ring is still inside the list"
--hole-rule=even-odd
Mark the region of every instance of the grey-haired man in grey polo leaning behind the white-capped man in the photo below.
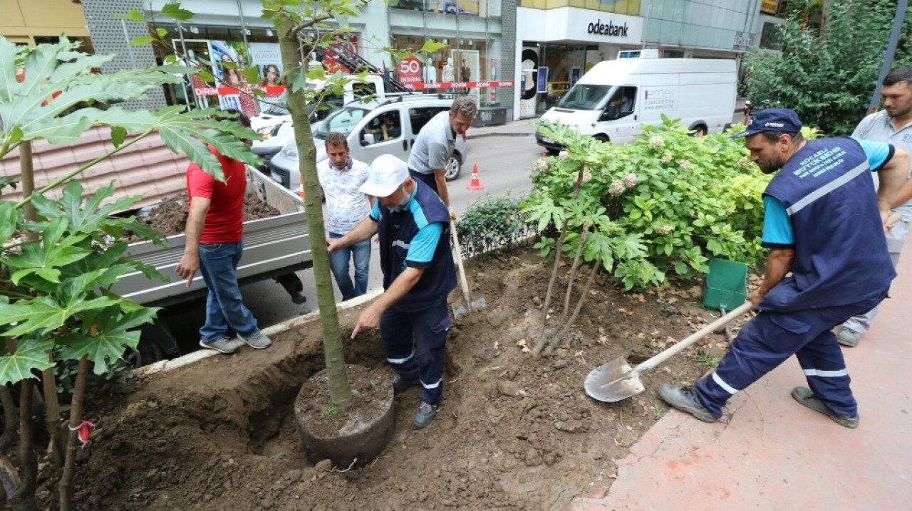
[[[420,179],[440,195],[450,207],[447,190],[447,161],[456,148],[456,136],[464,136],[472,126],[477,108],[472,97],[457,97],[449,112],[440,112],[421,128],[409,156],[409,174]]]

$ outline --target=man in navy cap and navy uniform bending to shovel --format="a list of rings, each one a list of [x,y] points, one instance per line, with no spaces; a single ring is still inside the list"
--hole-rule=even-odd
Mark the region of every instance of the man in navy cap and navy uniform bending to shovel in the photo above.
[[[762,244],[770,253],[760,288],[748,296],[759,313],[692,390],[663,385],[659,395],[713,422],[734,393],[794,354],[808,386],[795,387],[793,398],[855,428],[858,407],[832,329],[871,310],[896,276],[884,223],[909,156],[858,138],[804,140],[801,121],[786,108],[757,112],[741,137],[764,173],[782,169],[763,192]]]

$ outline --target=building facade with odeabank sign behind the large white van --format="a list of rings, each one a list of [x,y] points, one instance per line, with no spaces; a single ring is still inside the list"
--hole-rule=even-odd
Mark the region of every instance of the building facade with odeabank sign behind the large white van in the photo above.
[[[767,0],[521,0],[514,118],[540,116],[619,52],[739,59],[757,46]]]

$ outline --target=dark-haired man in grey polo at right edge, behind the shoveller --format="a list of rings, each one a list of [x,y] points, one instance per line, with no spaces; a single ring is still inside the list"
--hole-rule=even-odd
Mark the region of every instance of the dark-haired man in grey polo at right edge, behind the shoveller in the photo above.
[[[887,142],[897,148],[912,152],[912,67],[899,67],[884,78],[881,89],[884,109],[862,119],[853,137],[876,142]],[[876,185],[876,174],[875,174]],[[912,221],[912,180],[906,181],[890,206],[902,215],[886,233],[886,248],[890,250],[893,266],[899,261],[899,252],[906,241],[909,221]],[[843,346],[857,346],[861,336],[871,328],[877,307],[866,314],[850,318],[836,334],[836,341]]]

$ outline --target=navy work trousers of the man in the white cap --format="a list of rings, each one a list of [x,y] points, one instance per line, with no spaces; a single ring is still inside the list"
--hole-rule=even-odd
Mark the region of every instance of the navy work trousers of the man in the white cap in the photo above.
[[[426,403],[440,403],[443,397],[443,347],[451,324],[446,299],[420,312],[402,312],[394,305],[380,316],[389,367],[402,378],[419,380]]]

